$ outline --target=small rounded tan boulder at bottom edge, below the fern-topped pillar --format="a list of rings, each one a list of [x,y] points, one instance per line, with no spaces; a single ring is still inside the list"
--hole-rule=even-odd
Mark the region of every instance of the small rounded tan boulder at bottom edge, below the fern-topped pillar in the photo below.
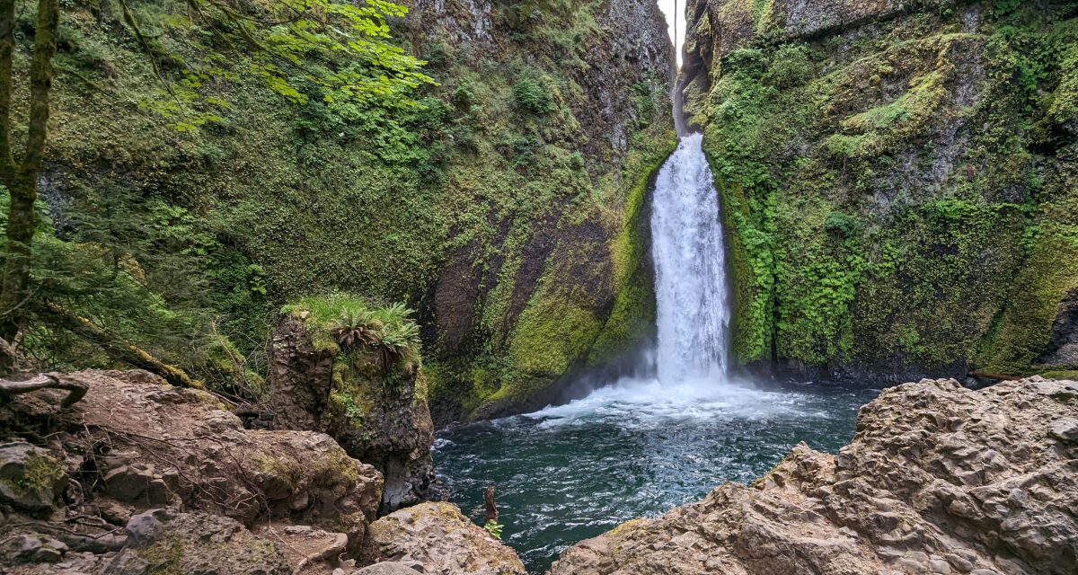
[[[525,575],[516,553],[447,503],[423,503],[371,524],[363,574]]]

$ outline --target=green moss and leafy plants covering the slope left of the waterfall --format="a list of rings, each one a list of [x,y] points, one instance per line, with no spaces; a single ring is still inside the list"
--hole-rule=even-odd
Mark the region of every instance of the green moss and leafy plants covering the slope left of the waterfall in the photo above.
[[[74,369],[128,362],[113,352],[134,345],[254,399],[281,305],[357,293],[418,310],[431,393],[474,409],[635,344],[649,304],[621,290],[635,287],[639,243],[612,238],[673,138],[665,71],[609,67],[619,31],[597,24],[602,2],[498,4],[497,49],[385,2],[319,0],[279,28],[264,24],[285,3],[199,5],[64,5],[28,289],[67,315],[23,318],[20,351]],[[19,13],[15,29],[33,16]],[[344,36],[324,37],[333,23]],[[334,47],[360,32],[368,44]],[[617,134],[593,126],[599,88],[582,80],[596,70],[602,96],[626,108]],[[27,97],[16,86],[15,101]],[[25,118],[14,122],[24,133]],[[592,269],[584,279],[577,259]],[[448,275],[474,280],[445,288],[471,290],[467,307],[438,309]],[[417,354],[417,328],[362,315],[378,310],[335,313],[320,344],[364,342],[389,354],[383,364]],[[72,317],[111,347],[65,327]],[[614,324],[633,327],[592,353]],[[552,345],[533,326],[572,341]],[[358,417],[363,400],[350,401],[341,408]]]

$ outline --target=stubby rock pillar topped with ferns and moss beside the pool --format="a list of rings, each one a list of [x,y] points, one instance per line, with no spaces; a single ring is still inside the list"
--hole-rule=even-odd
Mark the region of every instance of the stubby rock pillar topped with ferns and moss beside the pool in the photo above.
[[[343,295],[305,298],[286,306],[271,344],[274,426],[327,433],[376,467],[383,511],[419,502],[434,479],[418,331],[405,312]],[[353,330],[362,333],[349,340]],[[386,355],[400,331],[415,338]]]

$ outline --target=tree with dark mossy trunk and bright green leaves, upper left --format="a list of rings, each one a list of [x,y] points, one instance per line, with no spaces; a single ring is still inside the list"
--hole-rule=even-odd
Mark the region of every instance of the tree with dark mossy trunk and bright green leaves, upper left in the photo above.
[[[164,14],[162,22],[152,24],[177,39],[166,46],[162,35],[143,33],[147,23],[139,22],[128,0],[113,1],[119,3],[123,23],[144,49],[162,86],[161,97],[142,102],[143,109],[169,118],[178,129],[197,129],[220,118],[227,102],[202,88],[216,80],[238,76],[260,79],[267,88],[298,106],[305,105],[308,92],[313,92],[326,101],[377,100],[412,107],[416,104],[411,93],[433,83],[421,72],[421,61],[390,42],[388,18],[406,11],[392,2],[165,1],[164,10],[155,11]],[[162,5],[155,3],[154,8]],[[0,183],[10,194],[0,338],[15,342],[22,328],[34,318],[94,341],[111,355],[119,354],[118,359],[144,359],[149,354],[116,341],[75,310],[55,301],[37,301],[42,298],[36,297],[31,286],[32,247],[39,223],[34,203],[49,136],[52,60],[57,50],[59,16],[58,0],[38,0],[26,139],[16,147],[12,141],[13,128],[19,127],[14,125],[16,114],[12,110],[14,82],[19,76],[15,73],[19,61],[16,11],[14,0],[0,0]],[[0,370],[6,367],[3,361],[0,359]]]

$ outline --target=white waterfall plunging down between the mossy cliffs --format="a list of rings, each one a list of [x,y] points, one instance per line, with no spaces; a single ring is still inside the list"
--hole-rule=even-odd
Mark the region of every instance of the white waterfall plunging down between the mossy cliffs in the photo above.
[[[681,137],[655,180],[651,208],[659,381],[722,379],[730,305],[718,192],[703,135]]]

